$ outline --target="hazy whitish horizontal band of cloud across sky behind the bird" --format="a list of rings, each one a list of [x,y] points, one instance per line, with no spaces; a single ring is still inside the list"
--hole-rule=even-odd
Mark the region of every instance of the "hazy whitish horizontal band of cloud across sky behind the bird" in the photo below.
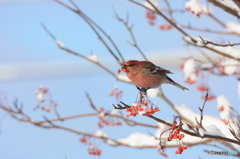
[[[166,69],[178,68],[181,63],[181,57],[186,57],[184,51],[165,51],[165,56],[159,54],[162,51],[146,53],[149,60]],[[175,52],[174,54],[172,52]],[[135,59],[136,56],[127,56],[126,60]],[[140,56],[139,56],[140,57]],[[142,57],[137,60],[143,60]],[[100,63],[109,68],[117,75],[120,65],[112,58],[100,59]],[[48,61],[48,62],[28,62],[21,64],[2,64],[0,65],[0,81],[17,79],[36,79],[71,75],[84,75],[106,73],[97,65],[80,60],[72,61]],[[107,74],[107,73],[106,73]]]

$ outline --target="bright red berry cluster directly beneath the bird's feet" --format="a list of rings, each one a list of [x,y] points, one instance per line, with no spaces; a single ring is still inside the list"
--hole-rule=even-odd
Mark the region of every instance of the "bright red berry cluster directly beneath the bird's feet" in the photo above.
[[[152,115],[155,112],[160,111],[159,108],[154,105],[147,97],[145,93],[140,93],[140,98],[135,103],[132,104],[130,108],[126,109],[126,112],[128,112],[127,117],[129,116],[137,116],[137,114],[140,115]]]

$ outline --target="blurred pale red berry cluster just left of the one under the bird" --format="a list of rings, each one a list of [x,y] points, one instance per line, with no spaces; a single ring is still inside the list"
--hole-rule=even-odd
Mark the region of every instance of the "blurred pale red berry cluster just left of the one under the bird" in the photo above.
[[[106,118],[103,107],[100,108],[100,113],[98,114],[100,121],[97,123],[99,128],[103,128],[104,125],[106,126],[119,126],[122,125],[118,120],[114,119],[113,117],[108,116]]]

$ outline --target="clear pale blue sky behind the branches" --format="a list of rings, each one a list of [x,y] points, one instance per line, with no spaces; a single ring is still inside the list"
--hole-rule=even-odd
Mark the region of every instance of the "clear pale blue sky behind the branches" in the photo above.
[[[121,17],[125,17],[126,12],[129,11],[130,23],[134,23],[133,32],[137,42],[147,55],[151,54],[153,58],[161,58],[166,54],[168,56],[175,56],[177,53],[183,52],[191,54],[185,43],[181,41],[182,35],[179,32],[176,30],[162,32],[157,26],[149,26],[145,19],[145,10],[129,1],[79,0],[76,3],[111,35],[127,60],[132,57],[141,59],[141,56],[135,48],[127,43],[127,40],[131,41],[131,38],[125,27],[114,18],[112,7]],[[184,1],[174,3],[173,7],[179,6],[183,7]],[[222,13],[218,9],[214,11],[216,14]],[[180,24],[188,24],[187,19],[187,21],[194,21],[192,25],[209,24],[212,28],[220,29],[215,23],[210,23],[208,18],[198,19],[191,14],[177,15],[176,18],[179,19]],[[228,18],[229,16],[223,17],[226,21]],[[231,18],[235,20],[233,17]],[[86,91],[97,107],[103,106],[106,109],[112,109],[112,103],[116,103],[116,100],[108,97],[108,93],[116,84],[124,91],[123,101],[132,103],[135,100],[137,90],[134,86],[117,82],[96,66],[59,50],[40,25],[43,22],[67,48],[83,55],[90,55],[91,52],[94,52],[100,61],[102,60],[103,63],[106,61],[111,65],[114,59],[109,52],[83,20],[71,11],[50,0],[0,0],[0,20],[0,70],[3,71],[1,68],[7,66],[8,69],[12,68],[12,72],[17,70],[15,76],[8,79],[1,77],[0,72],[0,91],[7,92],[9,101],[18,98],[24,104],[24,111],[31,114],[32,118],[40,120],[43,115],[47,115],[49,118],[53,117],[53,114],[32,111],[37,104],[34,91],[41,84],[50,89],[53,99],[59,103],[59,112],[62,116],[93,112],[86,99]],[[158,17],[158,23],[163,22]],[[190,33],[195,36],[199,34]],[[202,33],[201,35],[209,34]],[[209,35],[208,37],[224,38],[219,35]],[[229,38],[232,42],[236,40],[235,37],[229,36]],[[67,71],[64,71],[65,68]],[[86,71],[86,68],[89,71]],[[111,69],[116,72],[118,66],[115,65]],[[19,72],[19,70],[21,71]],[[37,70],[44,70],[44,72]],[[9,72],[7,71],[7,73]],[[198,106],[201,106],[203,102],[200,99],[201,94],[195,91],[195,85],[184,84],[183,75],[178,69],[173,69],[172,72],[174,75],[171,75],[171,78],[190,88],[190,91],[182,92],[173,86],[164,85],[163,90],[166,96],[176,105],[185,103],[195,112],[198,112]],[[239,97],[235,78],[224,77],[219,80],[215,76],[209,76],[209,83],[216,95],[225,94],[233,107],[236,108]],[[174,112],[161,99],[153,99],[153,102],[161,109],[159,117],[170,121]],[[216,100],[207,103],[205,112],[218,116]],[[0,117],[4,115],[5,113],[0,111]],[[64,122],[64,125],[87,132],[95,132],[97,118],[86,119],[88,120]],[[136,120],[155,124],[152,120],[144,117],[136,117]],[[113,138],[127,137],[135,131],[147,133],[146,128],[128,128],[127,126],[104,128],[103,131]],[[155,132],[155,130],[150,131]],[[7,116],[1,123],[0,156],[4,159],[61,159],[66,154],[68,159],[93,158],[87,154],[87,147],[79,143],[79,138],[80,136],[69,132],[45,130],[30,124],[20,123]],[[104,143],[100,143],[100,145],[103,149],[101,156],[103,159],[110,159],[113,156],[116,159],[159,157],[155,149],[136,150],[125,147],[113,148]],[[170,158],[176,157],[173,154],[175,149],[166,150]],[[198,158],[198,154],[201,158],[209,157],[202,152],[203,149],[212,150],[213,148],[207,146],[189,148],[181,155],[181,158]]]

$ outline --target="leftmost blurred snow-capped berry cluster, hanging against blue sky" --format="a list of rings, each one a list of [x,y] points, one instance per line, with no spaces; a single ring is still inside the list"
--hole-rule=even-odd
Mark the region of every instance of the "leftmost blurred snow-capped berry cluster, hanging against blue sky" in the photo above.
[[[41,107],[41,110],[45,112],[50,112],[52,107],[54,108],[57,107],[58,104],[55,101],[53,101],[48,88],[45,88],[43,85],[41,85],[35,91],[35,94],[37,96],[38,104],[33,108],[34,111]],[[41,106],[43,104],[44,106]]]

